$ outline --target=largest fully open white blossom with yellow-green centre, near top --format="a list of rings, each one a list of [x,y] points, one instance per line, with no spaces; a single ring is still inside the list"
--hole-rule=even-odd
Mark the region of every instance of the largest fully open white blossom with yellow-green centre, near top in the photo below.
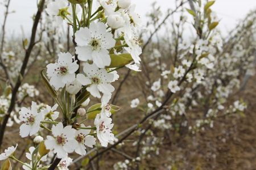
[[[104,23],[92,23],[90,28],[80,28],[76,32],[76,42],[79,60],[92,60],[100,68],[110,65],[108,49],[115,46],[115,40],[112,33],[106,31]]]

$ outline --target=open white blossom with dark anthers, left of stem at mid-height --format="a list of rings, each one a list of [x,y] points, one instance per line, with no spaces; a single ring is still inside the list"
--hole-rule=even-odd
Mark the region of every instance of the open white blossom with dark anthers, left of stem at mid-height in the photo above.
[[[70,53],[60,53],[56,63],[47,65],[47,75],[50,78],[49,83],[59,90],[68,82],[73,82],[76,78],[76,71],[79,69],[77,61],[73,62]]]

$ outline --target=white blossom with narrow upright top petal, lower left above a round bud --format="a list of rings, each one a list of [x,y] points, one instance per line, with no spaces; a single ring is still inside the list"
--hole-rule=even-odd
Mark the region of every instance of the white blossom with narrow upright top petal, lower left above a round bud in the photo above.
[[[19,128],[19,134],[22,138],[28,135],[34,135],[38,133],[40,128],[40,122],[43,121],[43,114],[38,113],[37,105],[32,101],[31,109],[22,107],[19,112],[19,119],[23,124]]]

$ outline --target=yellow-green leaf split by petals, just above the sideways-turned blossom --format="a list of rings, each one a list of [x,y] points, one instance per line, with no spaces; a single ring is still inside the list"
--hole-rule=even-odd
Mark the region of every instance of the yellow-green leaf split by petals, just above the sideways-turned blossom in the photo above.
[[[118,111],[120,111],[120,107],[116,106],[116,105],[110,105],[110,112],[112,114],[117,113]],[[87,114],[86,117],[88,119],[94,119],[96,117],[97,114],[101,113],[101,103],[98,104],[94,104],[92,105],[88,110],[87,110]]]

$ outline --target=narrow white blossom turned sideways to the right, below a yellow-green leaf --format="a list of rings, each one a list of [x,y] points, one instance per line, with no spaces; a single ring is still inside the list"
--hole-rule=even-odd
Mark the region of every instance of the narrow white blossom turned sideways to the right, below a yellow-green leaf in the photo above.
[[[112,118],[100,116],[97,114],[94,125],[97,128],[97,138],[99,139],[101,146],[107,147],[109,142],[113,142],[115,137],[111,129],[114,124],[112,124]]]

